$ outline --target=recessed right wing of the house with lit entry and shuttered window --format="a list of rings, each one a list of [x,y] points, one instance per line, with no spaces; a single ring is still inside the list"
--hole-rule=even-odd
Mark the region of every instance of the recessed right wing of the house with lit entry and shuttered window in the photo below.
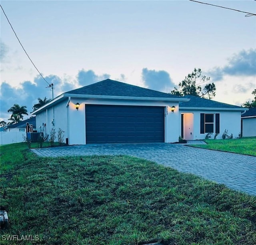
[[[180,103],[181,136],[186,140],[204,139],[207,133],[212,133],[211,138],[222,138],[225,130],[228,135],[238,137],[241,133],[241,113],[246,108],[229,105],[192,95],[184,98],[190,101]]]

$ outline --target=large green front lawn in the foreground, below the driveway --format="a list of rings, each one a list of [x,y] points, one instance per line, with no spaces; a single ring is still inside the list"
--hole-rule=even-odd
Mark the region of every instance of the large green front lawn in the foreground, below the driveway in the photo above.
[[[255,245],[256,197],[129,156],[39,158],[2,146],[5,244]],[[3,239],[2,239],[3,240]]]

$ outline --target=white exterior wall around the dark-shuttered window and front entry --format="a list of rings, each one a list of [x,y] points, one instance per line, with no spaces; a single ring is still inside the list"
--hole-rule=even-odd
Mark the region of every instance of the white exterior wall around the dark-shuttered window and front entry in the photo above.
[[[200,113],[220,113],[220,134],[218,134],[217,139],[222,138],[224,130],[228,130],[228,135],[233,134],[233,138],[238,137],[241,132],[241,111],[200,111],[200,110],[180,110],[181,113],[193,113],[194,114],[194,140],[202,140],[205,138],[206,134],[200,134]],[[214,119],[215,120],[215,119]],[[180,133],[181,134],[181,133]],[[215,122],[214,122],[214,133],[215,135]]]

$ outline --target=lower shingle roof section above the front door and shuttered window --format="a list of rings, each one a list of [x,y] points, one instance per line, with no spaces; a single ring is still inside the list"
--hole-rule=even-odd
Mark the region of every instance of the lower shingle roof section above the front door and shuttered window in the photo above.
[[[234,109],[234,108],[241,108],[239,106],[236,105],[230,105],[230,104],[226,104],[226,103],[221,103],[218,101],[212,101],[210,99],[204,99],[201,97],[197,97],[197,96],[193,96],[193,95],[186,95],[184,96],[184,98],[188,98],[190,99],[190,101],[188,102],[180,102],[180,107],[186,107],[186,108],[230,108],[230,109]]]

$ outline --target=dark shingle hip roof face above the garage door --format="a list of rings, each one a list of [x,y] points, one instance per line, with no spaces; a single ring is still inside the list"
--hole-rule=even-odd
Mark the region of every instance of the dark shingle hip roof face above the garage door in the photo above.
[[[74,89],[64,94],[77,95],[102,95],[102,96],[120,96],[120,97],[152,97],[152,98],[177,98],[181,97],[162,93],[159,91],[145,89],[128,83],[121,83],[111,79],[106,79],[98,83]]]

